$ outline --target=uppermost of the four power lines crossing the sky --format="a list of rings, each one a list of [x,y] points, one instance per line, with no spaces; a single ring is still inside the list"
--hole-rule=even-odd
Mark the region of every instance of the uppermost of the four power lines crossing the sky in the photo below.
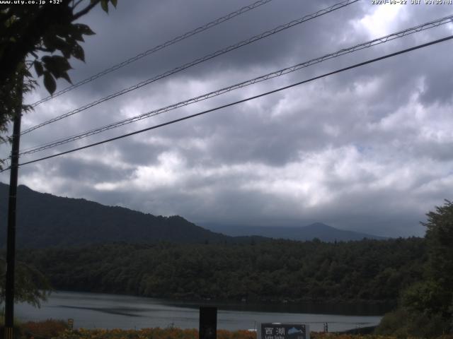
[[[172,40],[168,40],[167,42],[164,42],[163,44],[158,44],[157,46],[154,46],[151,49],[148,49],[145,52],[142,52],[140,54],[137,54],[136,56],[127,59],[125,61],[120,62],[120,64],[116,64],[114,66],[111,66],[108,69],[105,69],[94,76],[91,76],[89,78],[86,78],[82,81],[79,81],[79,83],[75,83],[74,85],[68,86],[67,88],[64,88],[62,90],[59,90],[58,92],[54,93],[53,95],[49,95],[47,97],[44,97],[41,100],[38,100],[37,102],[34,102],[31,106],[36,107],[40,105],[42,102],[46,102],[47,100],[53,99],[54,97],[58,97],[59,95],[62,95],[64,93],[69,92],[70,90],[74,90],[74,88],[78,88],[81,85],[85,85],[86,83],[90,83],[91,81],[101,78],[101,76],[105,76],[105,74],[108,74],[110,72],[116,71],[117,69],[121,69],[122,67],[131,64],[134,61],[137,61],[139,59],[142,59],[143,57],[147,57],[149,54],[152,54],[154,52],[157,52],[161,49],[164,49],[165,47],[170,46],[171,44],[176,44],[176,42],[180,42],[184,39],[187,39],[188,37],[191,37],[193,35],[196,35],[200,32],[204,32],[205,30],[208,30],[216,25],[219,25],[220,23],[224,23],[226,20],[230,20],[236,16],[240,16],[243,13],[246,13],[248,11],[251,11],[254,8],[257,8],[261,5],[267,4],[268,2],[273,1],[273,0],[260,0],[256,1],[251,5],[244,6],[242,8],[239,8],[237,11],[231,12],[229,14],[226,14],[226,16],[222,16],[222,18],[218,18],[216,20],[212,20],[210,23],[207,23],[205,25],[202,25],[198,28],[195,28],[195,30],[191,30],[190,32],[185,32],[183,35],[179,35],[178,37],[173,38]]]

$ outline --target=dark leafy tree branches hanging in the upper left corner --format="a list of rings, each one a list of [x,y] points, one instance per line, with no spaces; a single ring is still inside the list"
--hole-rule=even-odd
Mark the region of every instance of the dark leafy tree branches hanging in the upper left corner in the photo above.
[[[42,78],[47,91],[57,88],[56,79],[71,83],[69,59],[85,61],[80,42],[94,32],[82,23],[76,23],[92,8],[101,4],[108,12],[108,3],[116,6],[117,0],[62,0],[59,4],[2,5],[0,7],[0,139],[18,105],[18,85],[33,90],[37,84],[30,69]],[[25,81],[23,78],[25,77]],[[29,110],[30,107],[23,107]],[[0,164],[1,165],[1,164]]]

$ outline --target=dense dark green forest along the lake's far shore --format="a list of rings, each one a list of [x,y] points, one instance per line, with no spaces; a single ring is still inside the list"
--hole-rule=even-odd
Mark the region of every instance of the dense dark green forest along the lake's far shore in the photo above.
[[[21,251],[60,290],[178,299],[396,301],[420,280],[424,239],[108,244]]]

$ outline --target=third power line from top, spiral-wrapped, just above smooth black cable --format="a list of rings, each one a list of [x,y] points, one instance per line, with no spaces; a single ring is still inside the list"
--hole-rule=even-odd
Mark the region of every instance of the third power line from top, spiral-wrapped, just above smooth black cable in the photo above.
[[[440,19],[437,19],[437,20],[431,20],[428,23],[423,23],[421,25],[417,25],[417,26],[412,27],[412,28],[407,28],[406,30],[401,30],[399,32],[395,32],[395,33],[392,33],[390,35],[386,35],[384,37],[379,37],[377,39],[370,40],[368,42],[363,42],[361,44],[356,44],[355,46],[352,46],[352,47],[348,47],[348,48],[345,48],[345,49],[340,49],[337,52],[333,52],[331,54],[326,54],[323,57],[319,57],[319,58],[316,58],[316,59],[311,59],[309,61],[304,61],[304,62],[302,62],[300,64],[297,64],[297,65],[294,65],[294,66],[290,66],[290,67],[287,67],[285,69],[280,69],[278,71],[273,71],[272,73],[267,73],[267,74],[265,74],[263,76],[258,76],[256,78],[253,78],[253,79],[248,80],[248,81],[243,81],[241,83],[236,83],[235,85],[231,85],[231,86],[226,87],[226,88],[221,88],[219,90],[214,90],[214,91],[212,91],[210,93],[206,93],[204,95],[199,95],[197,97],[193,97],[191,99],[184,100],[182,102],[178,102],[178,103],[173,104],[173,105],[169,105],[169,106],[166,106],[166,107],[161,107],[159,109],[154,109],[154,110],[152,110],[150,112],[147,112],[147,113],[144,113],[144,114],[140,114],[140,115],[137,115],[135,117],[124,119],[124,120],[121,120],[121,121],[116,121],[116,122],[114,122],[112,124],[101,126],[101,127],[96,128],[96,129],[91,129],[90,131],[86,131],[86,132],[79,133],[79,134],[76,134],[76,135],[73,135],[73,136],[69,136],[67,138],[61,138],[61,139],[59,139],[57,141],[52,141],[50,143],[45,143],[45,144],[42,144],[42,145],[38,145],[38,146],[35,146],[33,148],[28,148],[27,150],[23,150],[21,155],[36,153],[36,152],[39,152],[41,150],[46,150],[48,148],[53,148],[53,147],[58,146],[58,145],[64,145],[64,144],[69,143],[71,141],[79,140],[81,138],[86,138],[88,136],[93,136],[95,134],[102,133],[104,131],[108,131],[110,129],[115,129],[117,127],[124,126],[126,124],[131,124],[132,122],[135,122],[135,121],[139,121],[139,120],[142,120],[142,119],[147,119],[149,117],[154,117],[154,116],[156,116],[158,114],[162,114],[162,113],[171,111],[173,109],[177,109],[179,107],[187,106],[187,105],[193,104],[195,102],[200,102],[202,100],[207,100],[207,99],[209,99],[211,97],[215,97],[217,95],[222,95],[224,93],[228,93],[231,90],[236,90],[238,88],[243,88],[243,87],[246,87],[248,85],[252,85],[254,83],[259,83],[261,81],[266,81],[266,80],[268,80],[270,78],[276,78],[278,76],[282,76],[282,75],[285,75],[287,73],[291,73],[291,72],[297,71],[299,69],[311,66],[313,64],[319,64],[322,61],[325,61],[325,60],[328,60],[328,59],[333,59],[333,58],[339,57],[340,55],[343,55],[343,54],[352,53],[352,52],[355,52],[357,50],[369,48],[369,47],[375,46],[377,44],[382,44],[384,42],[388,42],[390,40],[395,40],[397,38],[404,37],[406,35],[410,35],[410,34],[413,34],[415,32],[420,32],[422,30],[428,30],[430,28],[434,28],[434,27],[437,27],[439,25],[444,25],[445,23],[452,22],[452,20],[453,20],[453,15],[447,16],[445,18],[440,18]]]

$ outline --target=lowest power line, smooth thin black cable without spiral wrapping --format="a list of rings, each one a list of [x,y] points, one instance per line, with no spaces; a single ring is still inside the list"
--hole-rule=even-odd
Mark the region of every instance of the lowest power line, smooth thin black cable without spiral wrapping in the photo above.
[[[236,102],[231,102],[229,104],[226,104],[226,105],[222,105],[222,106],[219,106],[219,107],[214,107],[212,109],[207,109],[205,111],[202,111],[202,112],[199,112],[199,113],[196,113],[196,114],[191,114],[191,115],[188,115],[187,117],[182,117],[182,118],[179,118],[179,119],[175,119],[175,120],[171,120],[171,121],[167,121],[163,124],[158,124],[158,125],[154,125],[154,126],[151,126],[151,127],[148,127],[146,129],[141,129],[139,131],[134,131],[132,133],[127,133],[127,134],[123,134],[121,136],[116,136],[115,138],[109,138],[109,139],[106,139],[104,141],[99,141],[97,143],[91,143],[89,145],[85,145],[85,146],[82,146],[82,147],[79,147],[79,148],[73,148],[72,150],[67,150],[65,152],[62,152],[62,153],[57,153],[57,154],[54,154],[54,155],[48,155],[47,157],[41,157],[39,159],[35,159],[35,160],[30,160],[28,162],[22,162],[21,164],[19,164],[20,166],[22,165],[28,165],[28,164],[31,164],[33,162],[38,162],[38,161],[42,161],[42,160],[47,160],[47,159],[50,159],[52,157],[58,157],[59,155],[65,155],[65,154],[68,154],[68,153],[73,153],[73,152],[76,152],[77,150],[84,150],[85,148],[91,148],[93,146],[96,146],[96,145],[101,145],[103,143],[109,143],[110,141],[115,141],[115,140],[118,140],[118,139],[121,139],[121,138],[126,138],[127,136],[133,136],[135,134],[138,134],[138,133],[143,133],[145,131],[150,131],[151,129],[158,129],[159,127],[163,127],[163,126],[167,126],[167,125],[170,125],[170,124],[175,124],[176,122],[179,122],[179,121],[183,121],[183,120],[187,120],[187,119],[190,119],[190,118],[194,118],[194,117],[198,117],[202,114],[207,114],[207,113],[210,113],[210,112],[214,112],[214,111],[217,111],[219,109],[223,109],[223,108],[226,108],[226,107],[230,107],[230,106],[233,106],[233,105],[237,105],[237,104],[240,104],[242,102],[246,102],[246,101],[250,101],[250,100],[254,100],[254,99],[257,99],[258,97],[264,97],[265,95],[270,95],[270,94],[273,94],[273,93],[277,93],[277,92],[280,92],[282,90],[287,90],[288,88],[292,88],[292,87],[295,87],[297,85],[302,85],[304,83],[309,83],[311,81],[315,81],[315,80],[318,80],[320,78],[325,78],[327,76],[332,76],[333,74],[336,74],[336,73],[340,73],[340,72],[343,72],[343,71],[348,71],[350,69],[355,69],[357,67],[360,67],[360,66],[364,66],[364,65],[367,65],[367,64],[372,64],[373,62],[376,62],[376,61],[380,61],[380,60],[383,60],[383,59],[388,59],[388,58],[391,58],[391,57],[396,57],[397,55],[399,54],[403,54],[403,53],[407,53],[407,52],[411,52],[415,49],[420,49],[420,48],[423,48],[423,47],[428,47],[432,44],[438,44],[440,42],[445,42],[447,40],[451,40],[453,39],[453,35],[449,35],[448,37],[444,37],[442,39],[438,39],[438,40],[433,40],[431,42],[427,42],[425,44],[419,44],[418,46],[415,46],[415,47],[411,47],[411,48],[408,48],[408,49],[402,49],[401,51],[398,51],[398,52],[394,52],[394,53],[391,53],[391,54],[386,54],[384,55],[383,57],[379,57],[379,58],[375,58],[375,59],[370,59],[370,60],[367,60],[367,61],[363,61],[359,64],[354,64],[352,66],[348,66],[348,67],[345,67],[343,69],[338,69],[336,71],[332,71],[330,73],[325,73],[321,76],[315,76],[314,78],[310,78],[308,80],[304,80],[304,81],[299,81],[298,83],[293,83],[292,85],[287,85],[285,87],[281,87],[281,88],[277,88],[275,90],[270,90],[268,92],[265,92],[265,93],[261,93],[259,95],[254,95],[253,97],[247,97],[246,99],[242,99],[242,100],[238,100]],[[1,172],[4,172],[6,171],[7,169],[9,168],[6,168],[4,170],[2,170]]]

